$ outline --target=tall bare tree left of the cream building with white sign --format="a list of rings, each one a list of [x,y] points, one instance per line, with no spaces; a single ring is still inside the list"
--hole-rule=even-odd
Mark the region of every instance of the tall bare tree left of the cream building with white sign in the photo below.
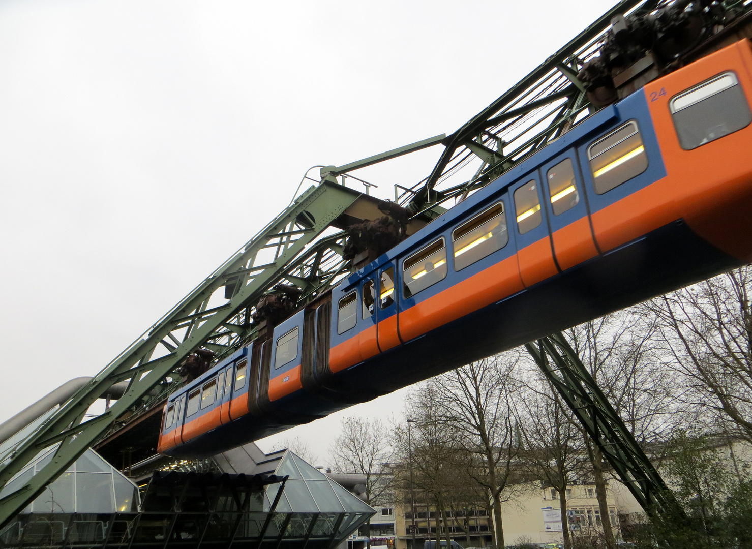
[[[505,547],[502,493],[514,479],[521,447],[515,417],[519,384],[511,375],[516,361],[493,356],[432,378],[437,420],[453,430],[453,441],[468,453],[468,476],[493,501],[496,547]]]

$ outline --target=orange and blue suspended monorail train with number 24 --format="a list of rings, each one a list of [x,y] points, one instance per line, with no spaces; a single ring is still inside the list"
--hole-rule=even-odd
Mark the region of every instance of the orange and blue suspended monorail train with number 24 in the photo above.
[[[168,399],[206,456],[752,261],[752,49],[585,118]]]

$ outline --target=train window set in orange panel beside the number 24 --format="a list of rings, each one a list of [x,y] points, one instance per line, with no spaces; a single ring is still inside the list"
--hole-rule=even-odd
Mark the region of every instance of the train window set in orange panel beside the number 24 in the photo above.
[[[736,74],[725,72],[669,102],[681,148],[696,149],[749,126],[752,112]]]

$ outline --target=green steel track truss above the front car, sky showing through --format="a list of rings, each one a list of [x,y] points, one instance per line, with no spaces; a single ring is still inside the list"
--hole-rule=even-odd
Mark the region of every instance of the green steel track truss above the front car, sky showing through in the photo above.
[[[499,99],[444,139],[426,179],[405,189],[399,203],[413,211],[466,196],[562,135],[593,108],[577,74],[597,54],[611,18],[650,11],[658,0],[622,0]],[[531,35],[531,39],[534,34]]]

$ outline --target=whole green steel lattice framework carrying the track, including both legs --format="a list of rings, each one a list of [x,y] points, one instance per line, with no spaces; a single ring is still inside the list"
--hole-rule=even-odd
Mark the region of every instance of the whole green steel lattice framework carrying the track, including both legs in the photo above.
[[[322,168],[322,181],[317,186],[302,193],[120,353],[73,399],[0,456],[0,486],[5,486],[38,452],[57,446],[53,460],[44,469],[20,490],[0,499],[0,527],[38,496],[86,448],[117,429],[117,420],[124,414],[138,413],[174,390],[181,381],[174,370],[191,353],[205,347],[213,350],[217,359],[222,359],[253,339],[255,328],[250,323],[253,306],[276,284],[290,284],[302,290],[299,304],[303,305],[341,280],[347,273],[341,255],[346,234],[332,227],[332,221],[361,195],[336,184],[336,176],[441,143],[444,150],[431,174],[409,189],[402,188],[402,195],[398,197],[401,205],[416,214],[431,217],[440,213],[443,211],[441,204],[462,199],[483,187],[593,112],[586,89],[578,80],[578,71],[596,55],[612,17],[648,12],[659,3],[659,0],[619,2],[448,137],[429,138],[339,168]],[[750,2],[746,1],[744,6],[748,10]],[[562,345],[562,341],[549,338],[529,350],[549,375],[544,354],[557,362],[564,373],[551,381],[562,394],[569,395],[565,398],[567,402],[571,400],[572,405],[584,398],[582,392],[587,380],[575,362],[556,359],[556,353],[561,356],[568,352]],[[89,406],[112,385],[123,381],[129,384],[123,397],[104,414],[84,421]],[[593,429],[599,429],[596,434],[610,433],[608,439],[599,437],[596,441],[618,447],[605,450],[605,455],[614,457],[611,463],[617,472],[623,469],[622,480],[628,485],[635,481],[643,483],[639,488],[642,496],[638,499],[644,500],[644,505],[671,507],[672,502],[660,495],[665,490],[660,477],[652,473],[635,476],[638,471],[647,472],[652,466],[649,462],[646,465],[647,458],[638,448],[635,450],[633,441],[614,427],[620,423],[618,417],[603,408],[603,402],[588,405],[593,410],[592,417],[581,419],[586,425],[590,421]],[[603,410],[598,411],[600,408]],[[604,417],[608,417],[611,431],[599,423]],[[620,463],[629,463],[632,469],[624,469]]]

